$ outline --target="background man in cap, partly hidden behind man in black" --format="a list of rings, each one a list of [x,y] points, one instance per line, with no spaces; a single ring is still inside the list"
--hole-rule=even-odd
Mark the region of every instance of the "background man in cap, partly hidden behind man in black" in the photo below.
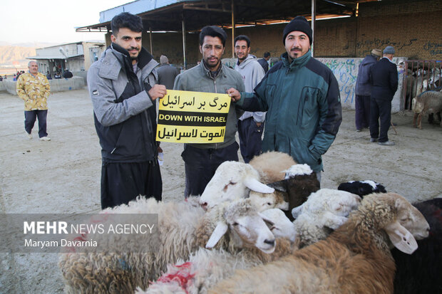
[[[364,127],[369,127],[370,125],[370,68],[379,61],[381,56],[382,51],[373,49],[359,64],[355,87],[356,97],[354,100],[356,132],[361,132]]]

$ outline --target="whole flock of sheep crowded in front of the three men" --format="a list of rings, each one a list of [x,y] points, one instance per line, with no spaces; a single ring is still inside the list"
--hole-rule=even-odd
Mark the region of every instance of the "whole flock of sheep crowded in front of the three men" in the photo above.
[[[281,152],[224,162],[202,195],[100,216],[118,214],[157,214],[158,238],[60,253],[66,293],[442,293],[442,199],[412,205],[369,180],[320,189]]]

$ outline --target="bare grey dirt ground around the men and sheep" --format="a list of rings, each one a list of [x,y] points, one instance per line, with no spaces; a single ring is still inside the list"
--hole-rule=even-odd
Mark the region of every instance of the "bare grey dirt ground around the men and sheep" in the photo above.
[[[48,102],[51,142],[24,134],[24,103],[0,93],[0,213],[74,214],[100,210],[101,154],[86,88],[53,93]],[[410,201],[442,196],[442,128],[411,126],[411,114],[395,114],[394,147],[355,132],[354,110],[343,111],[336,140],[324,155],[322,187],[372,179]],[[183,199],[183,146],[162,143],[163,199]],[[56,253],[0,253],[0,293],[63,293]]]

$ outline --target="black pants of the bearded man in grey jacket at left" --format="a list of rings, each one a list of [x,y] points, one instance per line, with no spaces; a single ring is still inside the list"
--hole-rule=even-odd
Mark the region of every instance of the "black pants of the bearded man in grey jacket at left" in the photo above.
[[[161,200],[163,182],[158,162],[103,162],[101,209],[128,204],[138,195]]]

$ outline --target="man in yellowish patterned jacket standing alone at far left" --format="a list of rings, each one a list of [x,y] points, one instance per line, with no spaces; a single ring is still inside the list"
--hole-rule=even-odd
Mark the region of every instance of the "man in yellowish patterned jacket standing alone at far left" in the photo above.
[[[38,137],[41,141],[51,141],[46,132],[48,97],[51,86],[42,73],[38,73],[36,61],[29,61],[29,73],[20,75],[16,84],[17,95],[24,100],[24,129],[26,137],[32,139],[32,128],[38,117]]]

